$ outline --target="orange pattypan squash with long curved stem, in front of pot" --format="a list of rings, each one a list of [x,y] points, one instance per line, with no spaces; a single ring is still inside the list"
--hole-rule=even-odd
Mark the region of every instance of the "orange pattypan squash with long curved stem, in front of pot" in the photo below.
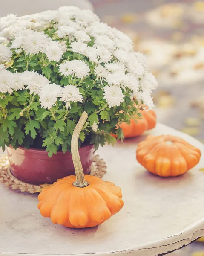
[[[72,135],[71,151],[76,176],[57,180],[42,189],[38,209],[53,223],[65,227],[95,227],[123,207],[121,189],[109,181],[83,174],[78,152],[78,137],[87,119],[84,112]]]

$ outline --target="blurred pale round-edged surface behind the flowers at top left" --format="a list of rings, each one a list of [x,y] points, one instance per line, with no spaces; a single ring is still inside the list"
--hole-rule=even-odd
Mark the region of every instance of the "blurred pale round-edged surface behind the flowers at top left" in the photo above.
[[[0,0],[0,17],[10,13],[22,16],[47,10],[57,10],[60,6],[78,6],[83,9],[93,9],[89,0]]]

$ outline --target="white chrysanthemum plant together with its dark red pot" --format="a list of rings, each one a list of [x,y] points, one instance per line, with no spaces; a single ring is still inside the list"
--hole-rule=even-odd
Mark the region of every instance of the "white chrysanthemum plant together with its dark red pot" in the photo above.
[[[94,150],[123,139],[121,122],[152,108],[157,82],[144,55],[90,10],[61,7],[0,19],[0,146],[11,172],[30,183],[74,174],[72,133],[80,133],[85,173]]]

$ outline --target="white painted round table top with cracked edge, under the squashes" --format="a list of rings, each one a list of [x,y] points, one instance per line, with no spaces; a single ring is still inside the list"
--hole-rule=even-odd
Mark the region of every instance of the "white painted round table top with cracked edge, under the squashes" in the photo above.
[[[204,235],[204,145],[158,124],[152,135],[172,134],[202,151],[194,169],[175,178],[147,172],[135,159],[138,141],[99,148],[108,166],[104,180],[123,192],[124,208],[98,227],[77,230],[52,224],[40,215],[37,195],[0,183],[0,255],[155,256],[179,249]]]

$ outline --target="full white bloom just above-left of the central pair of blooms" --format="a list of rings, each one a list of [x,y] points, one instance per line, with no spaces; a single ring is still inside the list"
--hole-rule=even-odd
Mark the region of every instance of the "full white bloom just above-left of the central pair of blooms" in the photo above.
[[[52,41],[46,45],[45,53],[49,61],[60,61],[64,53],[64,47],[57,41]]]

